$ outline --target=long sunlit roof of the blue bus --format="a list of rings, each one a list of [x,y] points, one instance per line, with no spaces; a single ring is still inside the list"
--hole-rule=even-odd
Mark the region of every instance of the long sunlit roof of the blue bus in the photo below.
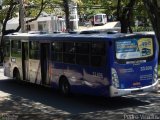
[[[135,34],[123,34],[123,33],[93,33],[93,34],[70,34],[70,33],[56,33],[56,34],[29,34],[29,33],[13,33],[4,36],[5,39],[21,39],[21,40],[35,40],[35,41],[43,41],[43,40],[87,40],[88,38],[99,39],[99,40],[115,40],[117,38],[125,38],[132,36],[148,36],[154,35],[153,33],[135,33]]]

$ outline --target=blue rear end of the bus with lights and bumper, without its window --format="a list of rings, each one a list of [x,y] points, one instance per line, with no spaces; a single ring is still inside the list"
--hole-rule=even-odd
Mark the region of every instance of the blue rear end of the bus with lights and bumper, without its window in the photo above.
[[[147,36],[141,36],[147,38]],[[151,36],[148,36],[149,38]],[[141,39],[141,38],[138,38]],[[122,96],[133,93],[156,91],[158,88],[158,43],[153,38],[153,57],[148,60],[126,60],[125,64],[119,63],[116,56],[112,55],[111,76],[112,86],[110,96]],[[115,48],[112,48],[113,50]],[[115,77],[116,76],[116,77]],[[116,80],[113,80],[115,79]],[[118,83],[115,85],[116,82]]]

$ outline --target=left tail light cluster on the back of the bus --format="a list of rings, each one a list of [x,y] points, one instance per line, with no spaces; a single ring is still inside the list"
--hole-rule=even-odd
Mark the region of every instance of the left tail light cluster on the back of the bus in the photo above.
[[[116,88],[119,87],[118,75],[117,75],[117,72],[114,68],[112,68],[112,85]]]

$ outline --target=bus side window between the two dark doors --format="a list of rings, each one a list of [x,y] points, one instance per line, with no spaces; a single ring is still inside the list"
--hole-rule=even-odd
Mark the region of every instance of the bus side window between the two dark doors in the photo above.
[[[40,44],[39,44],[39,42],[31,41],[29,43],[29,46],[30,46],[29,58],[30,59],[40,59]]]

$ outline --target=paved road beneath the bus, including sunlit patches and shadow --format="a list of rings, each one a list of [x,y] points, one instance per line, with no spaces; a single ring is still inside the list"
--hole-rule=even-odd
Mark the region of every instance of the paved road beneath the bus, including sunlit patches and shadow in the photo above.
[[[85,95],[65,98],[52,89],[16,83],[2,72],[0,69],[0,113],[8,114],[0,114],[0,119],[2,115],[19,120],[160,118],[159,92],[110,99]]]

